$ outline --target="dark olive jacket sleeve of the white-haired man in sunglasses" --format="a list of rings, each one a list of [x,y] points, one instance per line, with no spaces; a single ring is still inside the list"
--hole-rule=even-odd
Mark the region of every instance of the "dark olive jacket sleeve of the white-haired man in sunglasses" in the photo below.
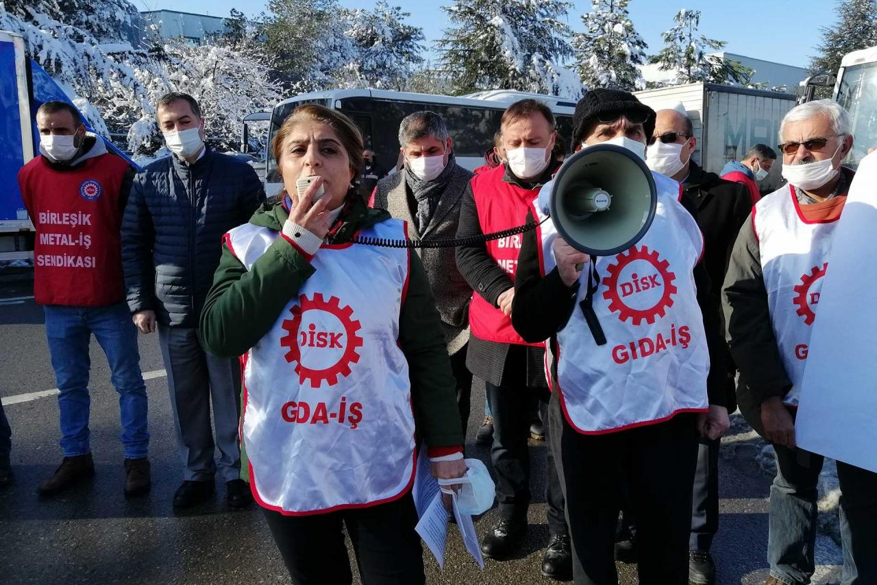
[[[792,387],[782,364],[774,328],[771,325],[767,291],[761,271],[759,241],[752,228],[752,216],[743,224],[724,278],[724,316],[731,355],[745,382],[740,396],[752,407],[773,396],[783,396]]]

